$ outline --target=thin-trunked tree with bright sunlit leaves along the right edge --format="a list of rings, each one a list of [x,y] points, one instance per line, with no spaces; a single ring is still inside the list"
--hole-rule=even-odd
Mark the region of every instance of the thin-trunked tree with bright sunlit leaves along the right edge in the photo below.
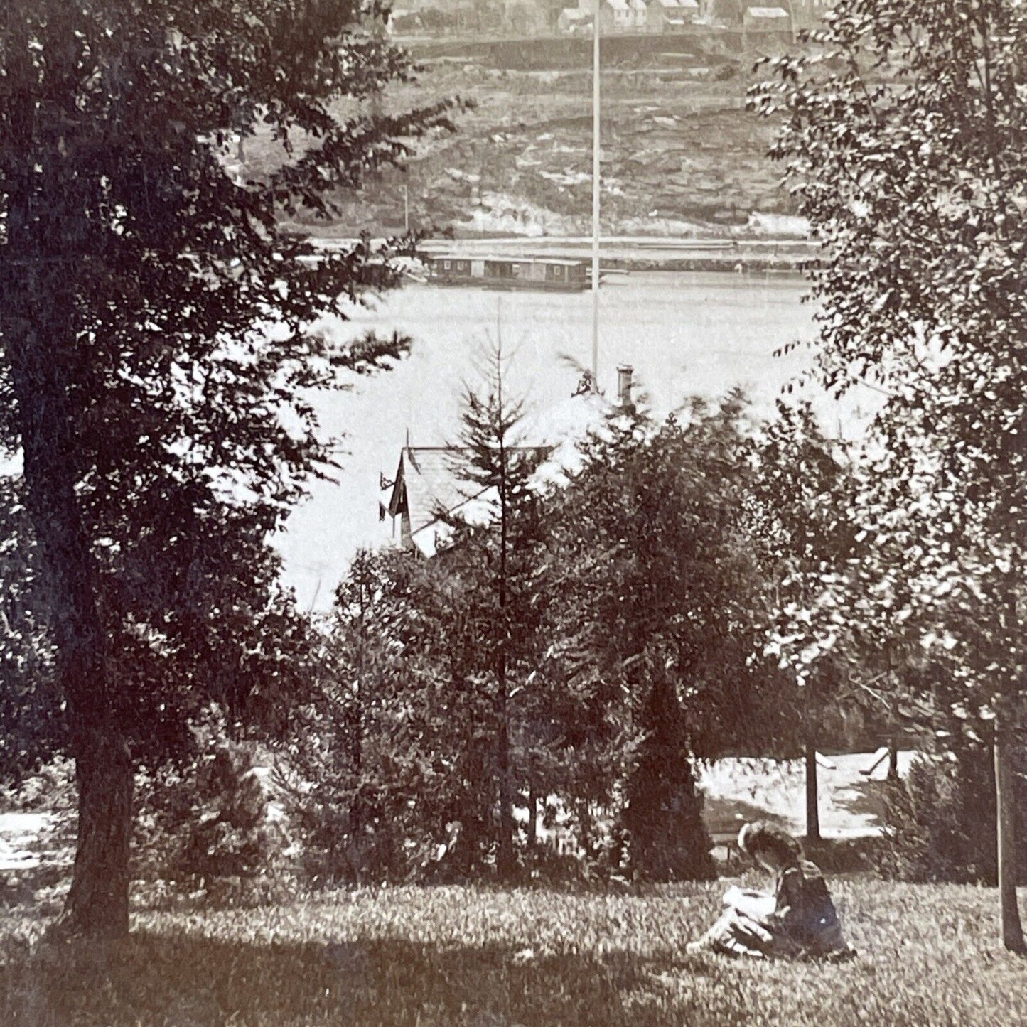
[[[840,0],[819,42],[829,60],[777,61],[753,100],[783,118],[773,154],[824,244],[819,377],[886,393],[866,587],[843,616],[886,610],[947,647],[960,707],[988,712],[1002,939],[1023,950],[1010,747],[1025,687],[1027,22],[1015,0]]]

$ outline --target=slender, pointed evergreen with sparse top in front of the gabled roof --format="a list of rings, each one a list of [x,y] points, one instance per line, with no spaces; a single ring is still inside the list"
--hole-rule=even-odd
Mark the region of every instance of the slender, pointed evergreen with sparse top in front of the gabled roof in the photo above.
[[[454,685],[469,690],[464,714],[478,721],[467,755],[476,769],[494,775],[496,870],[509,878],[517,865],[515,800],[533,739],[529,732],[520,753],[515,741],[525,737],[526,687],[540,662],[549,598],[542,500],[532,481],[544,453],[519,433],[524,405],[504,393],[498,343],[490,363],[484,394],[465,389],[453,472],[467,503],[440,511],[453,530],[440,563],[453,604],[447,634],[459,638],[455,651],[463,655],[452,668]]]

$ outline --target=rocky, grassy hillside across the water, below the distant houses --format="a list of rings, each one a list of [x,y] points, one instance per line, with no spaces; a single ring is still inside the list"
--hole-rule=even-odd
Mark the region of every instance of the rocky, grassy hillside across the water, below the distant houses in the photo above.
[[[754,63],[797,44],[769,38],[736,50],[719,37],[684,34],[665,37],[677,40],[672,46],[653,42],[663,38],[625,35],[603,44],[604,233],[801,235],[766,159],[773,126],[745,108],[758,77]],[[634,48],[616,52],[625,40]],[[554,47],[551,61],[537,52],[543,42]],[[515,44],[496,52],[484,43],[432,45],[424,44],[418,83],[391,90],[382,105],[460,97],[473,106],[459,115],[459,130],[418,144],[404,170],[341,195],[333,223],[311,219],[305,227],[327,235],[405,227],[458,236],[591,232],[591,41],[525,44],[525,62],[549,65],[541,68],[518,66],[520,51],[502,48]],[[259,168],[273,149],[267,139],[248,140],[248,164]]]

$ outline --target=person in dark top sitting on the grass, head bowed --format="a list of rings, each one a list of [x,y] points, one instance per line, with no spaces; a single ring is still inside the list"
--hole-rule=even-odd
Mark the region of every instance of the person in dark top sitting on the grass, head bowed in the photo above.
[[[824,875],[803,859],[787,831],[769,821],[747,824],[738,848],[775,875],[773,893],[729,888],[723,916],[688,946],[689,952],[707,948],[757,958],[852,954]]]

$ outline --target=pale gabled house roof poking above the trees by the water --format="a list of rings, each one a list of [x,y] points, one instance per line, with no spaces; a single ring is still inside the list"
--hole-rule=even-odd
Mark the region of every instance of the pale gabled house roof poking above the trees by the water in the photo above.
[[[520,446],[518,452],[533,453],[544,460],[549,446]],[[449,535],[445,515],[465,517],[471,523],[488,522],[493,497],[460,478],[460,448],[455,446],[405,446],[392,483],[388,506],[400,520],[400,544],[424,557],[433,557]]]

